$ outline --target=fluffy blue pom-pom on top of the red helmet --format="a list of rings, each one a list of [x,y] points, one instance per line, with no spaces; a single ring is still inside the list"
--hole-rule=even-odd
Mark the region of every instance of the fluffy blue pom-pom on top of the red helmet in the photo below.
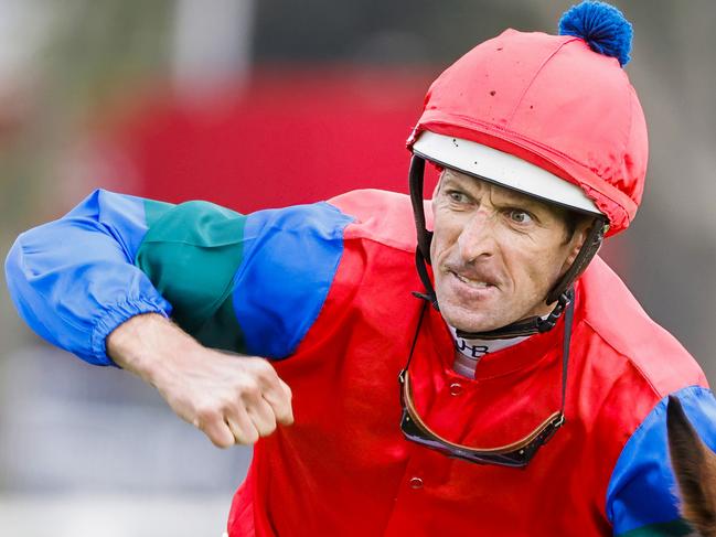
[[[622,67],[631,60],[631,23],[608,3],[585,1],[573,6],[559,19],[559,35],[581,37],[592,51],[619,60]]]

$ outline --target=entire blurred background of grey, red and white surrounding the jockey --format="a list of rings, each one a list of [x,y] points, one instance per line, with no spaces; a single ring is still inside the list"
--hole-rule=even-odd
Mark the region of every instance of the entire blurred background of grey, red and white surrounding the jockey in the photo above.
[[[430,80],[558,0],[0,0],[0,251],[93,189],[241,212],[406,192]],[[603,257],[716,379],[716,3],[616,4],[650,127],[644,203]],[[32,334],[0,286],[0,533],[218,536],[247,449]]]

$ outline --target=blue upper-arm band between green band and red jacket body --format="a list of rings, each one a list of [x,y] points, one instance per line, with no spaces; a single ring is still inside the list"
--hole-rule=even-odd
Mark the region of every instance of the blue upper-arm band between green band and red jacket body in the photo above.
[[[284,358],[296,350],[323,307],[351,222],[324,202],[247,217],[232,294],[241,351]]]

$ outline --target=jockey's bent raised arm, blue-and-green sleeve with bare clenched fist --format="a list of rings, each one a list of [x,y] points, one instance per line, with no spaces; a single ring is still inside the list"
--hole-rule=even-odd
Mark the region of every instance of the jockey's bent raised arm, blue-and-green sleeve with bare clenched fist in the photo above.
[[[244,216],[96,191],[18,238],[7,281],[51,343],[136,372],[218,445],[226,428],[250,442],[291,420],[290,391],[266,361],[207,347],[289,356],[322,307],[349,222],[327,204]]]

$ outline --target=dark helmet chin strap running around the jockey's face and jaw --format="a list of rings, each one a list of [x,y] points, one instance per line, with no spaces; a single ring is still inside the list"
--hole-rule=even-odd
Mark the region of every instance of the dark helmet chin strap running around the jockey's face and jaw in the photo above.
[[[417,229],[418,245],[415,250],[415,265],[418,270],[420,281],[425,287],[425,293],[415,292],[416,297],[427,300],[436,310],[439,311],[438,299],[435,294],[435,288],[428,273],[430,265],[430,241],[432,232],[426,227],[425,208],[423,205],[423,183],[425,175],[425,159],[413,155],[410,161],[409,185],[410,202],[413,204],[413,215],[415,217],[415,227]],[[595,222],[587,234],[579,253],[567,271],[557,280],[545,298],[546,304],[556,302],[552,312],[545,318],[531,316],[521,321],[515,321],[506,326],[490,330],[485,332],[466,332],[457,330],[457,335],[466,340],[502,340],[509,337],[521,337],[525,335],[538,334],[552,330],[565,311],[565,308],[574,299],[573,284],[575,280],[585,271],[589,261],[597,255],[605,233],[609,228],[606,218],[595,217]]]

